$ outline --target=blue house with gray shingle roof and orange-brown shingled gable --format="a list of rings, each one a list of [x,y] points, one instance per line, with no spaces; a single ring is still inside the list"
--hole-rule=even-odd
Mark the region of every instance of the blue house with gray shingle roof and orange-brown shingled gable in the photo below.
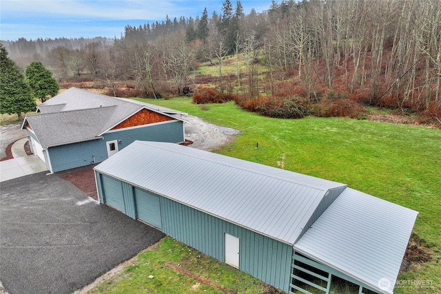
[[[50,172],[101,162],[134,140],[183,143],[183,112],[72,87],[25,116],[30,148]]]

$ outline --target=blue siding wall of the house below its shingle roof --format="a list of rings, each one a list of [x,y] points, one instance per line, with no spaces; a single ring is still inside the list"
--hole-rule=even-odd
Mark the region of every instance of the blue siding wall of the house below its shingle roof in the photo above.
[[[110,140],[121,140],[118,149],[130,145],[134,140],[181,143],[184,141],[183,122],[173,120],[167,123],[146,125],[132,129],[121,129],[103,134],[103,138],[69,145],[48,148],[52,172],[83,167],[107,159],[105,143]]]

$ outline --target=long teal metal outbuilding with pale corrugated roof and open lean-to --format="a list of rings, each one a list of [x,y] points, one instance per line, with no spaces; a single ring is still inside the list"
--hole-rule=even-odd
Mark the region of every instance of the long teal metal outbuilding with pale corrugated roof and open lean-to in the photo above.
[[[393,293],[418,213],[347,185],[172,143],[94,167],[99,202],[285,293]]]

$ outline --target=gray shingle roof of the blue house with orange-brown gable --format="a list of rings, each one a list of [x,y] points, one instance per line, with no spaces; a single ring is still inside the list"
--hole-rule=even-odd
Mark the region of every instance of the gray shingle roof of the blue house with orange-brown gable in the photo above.
[[[99,138],[141,109],[181,120],[185,114],[139,101],[115,98],[71,87],[38,106],[41,114],[26,116],[41,146],[51,147]]]

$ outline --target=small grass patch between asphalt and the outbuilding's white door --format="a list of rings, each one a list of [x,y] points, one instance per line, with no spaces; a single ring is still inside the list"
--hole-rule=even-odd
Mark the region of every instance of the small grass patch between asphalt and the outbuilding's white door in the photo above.
[[[88,294],[254,294],[265,290],[270,290],[269,286],[252,276],[166,237],[139,253],[122,273],[92,288]]]

